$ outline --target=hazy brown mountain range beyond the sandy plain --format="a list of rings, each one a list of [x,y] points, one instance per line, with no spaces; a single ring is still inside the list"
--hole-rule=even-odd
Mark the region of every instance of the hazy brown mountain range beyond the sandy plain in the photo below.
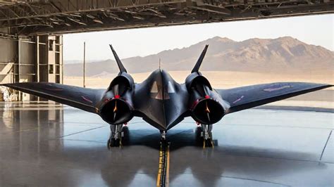
[[[199,54],[209,44],[201,70],[274,73],[333,73],[334,52],[321,46],[305,44],[292,37],[233,41],[214,37],[183,49],[123,59],[130,73],[164,70],[191,70]],[[114,60],[87,63],[87,76],[105,76],[118,72]],[[82,63],[65,65],[66,76],[82,76]],[[332,74],[333,75],[333,74]]]

